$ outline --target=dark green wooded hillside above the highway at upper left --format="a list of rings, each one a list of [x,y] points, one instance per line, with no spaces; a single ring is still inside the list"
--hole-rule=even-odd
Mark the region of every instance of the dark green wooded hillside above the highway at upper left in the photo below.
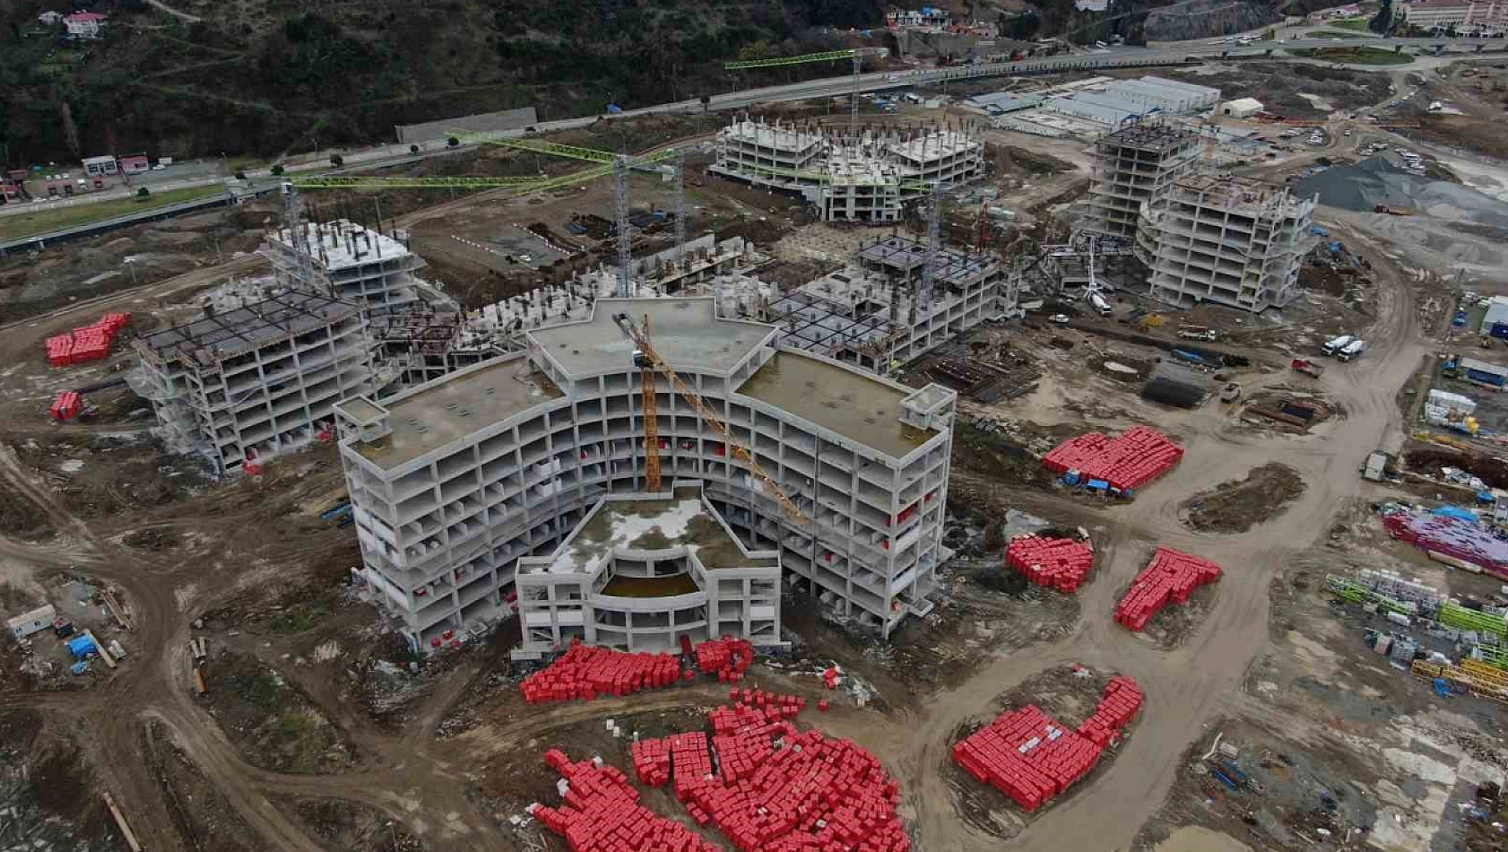
[[[0,139],[12,164],[101,151],[259,155],[362,145],[397,124],[537,106],[596,115],[731,87],[722,62],[857,44],[881,0],[176,0],[187,24],[115,0],[104,38],[66,42],[0,3]],[[840,74],[811,65],[743,84]]]

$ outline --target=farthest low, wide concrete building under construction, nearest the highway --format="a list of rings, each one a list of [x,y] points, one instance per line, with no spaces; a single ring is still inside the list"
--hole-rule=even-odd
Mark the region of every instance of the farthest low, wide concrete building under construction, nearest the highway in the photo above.
[[[933,181],[979,178],[982,154],[970,128],[852,131],[740,119],[718,134],[709,172],[799,195],[823,222],[887,223]]]

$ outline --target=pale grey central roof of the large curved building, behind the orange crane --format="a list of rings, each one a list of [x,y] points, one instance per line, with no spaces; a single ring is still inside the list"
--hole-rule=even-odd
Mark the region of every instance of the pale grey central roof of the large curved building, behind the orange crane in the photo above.
[[[719,320],[712,297],[599,299],[591,320],[535,329],[534,342],[572,375],[633,368],[633,341],[612,321],[629,314],[650,318],[654,351],[677,369],[728,372],[777,329],[762,323]]]

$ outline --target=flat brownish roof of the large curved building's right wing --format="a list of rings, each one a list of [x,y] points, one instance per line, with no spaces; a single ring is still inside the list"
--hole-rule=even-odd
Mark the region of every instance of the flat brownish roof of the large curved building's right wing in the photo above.
[[[775,354],[739,388],[739,394],[769,403],[891,458],[905,458],[938,434],[936,430],[920,430],[900,422],[900,403],[909,391],[802,353]]]

